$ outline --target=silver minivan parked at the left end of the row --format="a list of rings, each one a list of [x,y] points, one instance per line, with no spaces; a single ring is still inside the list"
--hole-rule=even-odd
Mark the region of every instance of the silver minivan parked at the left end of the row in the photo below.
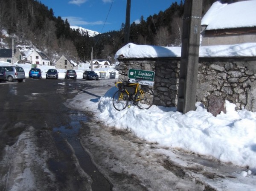
[[[8,81],[23,81],[26,78],[25,71],[22,67],[18,66],[2,66],[5,70],[6,78]]]

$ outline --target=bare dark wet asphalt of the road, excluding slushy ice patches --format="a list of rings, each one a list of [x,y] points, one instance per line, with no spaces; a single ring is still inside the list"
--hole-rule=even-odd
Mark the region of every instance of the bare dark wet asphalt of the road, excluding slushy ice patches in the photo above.
[[[79,142],[79,128],[81,125],[84,127],[82,121],[87,120],[87,116],[64,105],[67,99],[79,93],[78,84],[79,80],[71,79],[1,82],[0,159],[3,158],[6,145],[14,145],[20,134],[32,126],[38,135],[36,150],[51,155],[47,165],[55,174],[55,180],[51,182],[47,178],[40,179],[40,176],[38,179],[47,190],[108,191],[111,190],[110,183],[97,171]],[[83,84],[83,87],[86,86]],[[77,156],[74,157],[74,154]],[[79,167],[78,162],[81,163]],[[80,166],[89,177],[86,178]],[[0,173],[8,174],[4,168]],[[0,185],[0,190],[8,188]]]

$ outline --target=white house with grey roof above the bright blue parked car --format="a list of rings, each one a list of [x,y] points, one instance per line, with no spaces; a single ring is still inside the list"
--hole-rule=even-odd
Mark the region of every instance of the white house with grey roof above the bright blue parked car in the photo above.
[[[40,51],[33,51],[28,57],[27,60],[30,61],[31,64],[36,65],[47,65],[50,66],[50,58],[44,53]]]

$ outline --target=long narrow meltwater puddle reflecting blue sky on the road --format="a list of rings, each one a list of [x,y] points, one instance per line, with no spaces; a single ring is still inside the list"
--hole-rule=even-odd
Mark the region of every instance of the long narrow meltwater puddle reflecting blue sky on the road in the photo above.
[[[79,161],[79,165],[84,170],[84,172],[88,174],[93,180],[93,183],[91,185],[92,190],[93,191],[102,191],[102,190],[111,191],[110,183],[99,172],[96,166],[92,163],[90,156],[84,151],[84,149],[80,144],[80,139],[78,136],[79,129],[81,128],[81,123],[87,121],[87,117],[80,112],[75,112],[75,111],[72,111],[72,112],[73,113],[70,113],[71,121],[69,126],[55,127],[53,128],[53,132],[57,132],[56,136],[61,135],[63,139],[67,139],[67,142],[72,146],[75,152],[76,158]],[[61,142],[59,143],[61,144]],[[57,145],[57,146],[63,147],[63,145]],[[69,148],[65,148],[65,149],[69,150]]]

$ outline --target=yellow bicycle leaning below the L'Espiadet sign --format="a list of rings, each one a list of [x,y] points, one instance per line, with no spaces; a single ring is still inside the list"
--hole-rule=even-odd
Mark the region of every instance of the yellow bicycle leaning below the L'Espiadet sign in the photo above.
[[[116,110],[125,109],[129,101],[140,109],[148,109],[153,105],[154,93],[151,88],[141,87],[139,83],[127,81],[115,82],[115,86],[119,89],[113,96],[113,106]]]

